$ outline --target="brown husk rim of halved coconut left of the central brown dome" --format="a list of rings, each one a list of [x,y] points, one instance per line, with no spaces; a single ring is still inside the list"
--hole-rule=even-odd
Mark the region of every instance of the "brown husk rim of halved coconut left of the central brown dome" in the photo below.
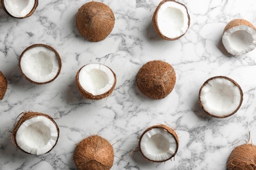
[[[84,65],[83,67],[85,67],[85,66],[86,65]],[[81,67],[81,69],[83,69],[83,67]],[[106,66],[106,67],[108,67],[108,66]],[[108,68],[110,69],[110,67],[108,67]],[[83,89],[83,87],[81,86],[81,84],[79,82],[79,73],[80,73],[81,69],[79,69],[79,71],[77,71],[77,74],[75,76],[75,82],[77,84],[77,88],[78,88],[79,92],[81,93],[81,95],[83,96],[84,99],[100,100],[105,97],[108,97],[114,91],[114,88],[116,87],[116,74],[114,73],[114,71],[112,71],[112,69],[110,69],[110,71],[112,71],[114,78],[115,78],[114,84],[113,84],[112,88],[110,88],[110,90],[108,90],[108,92],[102,93],[100,95],[93,95],[92,93],[89,93]]]

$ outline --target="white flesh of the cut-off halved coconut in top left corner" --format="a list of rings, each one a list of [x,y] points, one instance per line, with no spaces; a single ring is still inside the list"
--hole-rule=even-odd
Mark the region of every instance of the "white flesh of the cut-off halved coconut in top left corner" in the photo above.
[[[32,11],[35,0],[4,0],[4,4],[9,14],[22,18]]]

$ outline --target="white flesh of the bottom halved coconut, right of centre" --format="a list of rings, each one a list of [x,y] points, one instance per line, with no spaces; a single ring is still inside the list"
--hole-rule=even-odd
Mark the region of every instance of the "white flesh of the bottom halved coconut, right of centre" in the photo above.
[[[164,161],[175,154],[177,142],[171,133],[162,128],[154,128],[142,136],[140,150],[149,160]]]

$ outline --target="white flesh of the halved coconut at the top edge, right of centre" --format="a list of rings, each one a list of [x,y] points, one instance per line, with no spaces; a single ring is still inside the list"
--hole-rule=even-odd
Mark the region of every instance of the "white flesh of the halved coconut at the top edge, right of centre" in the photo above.
[[[162,35],[170,39],[180,37],[188,29],[186,8],[174,1],[167,1],[158,10],[158,28]]]

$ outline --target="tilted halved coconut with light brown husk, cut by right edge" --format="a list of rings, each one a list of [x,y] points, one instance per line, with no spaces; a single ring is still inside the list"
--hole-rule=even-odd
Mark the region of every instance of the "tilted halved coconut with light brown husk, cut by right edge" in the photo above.
[[[222,40],[227,52],[240,56],[256,47],[256,28],[247,20],[232,20],[224,28]]]

